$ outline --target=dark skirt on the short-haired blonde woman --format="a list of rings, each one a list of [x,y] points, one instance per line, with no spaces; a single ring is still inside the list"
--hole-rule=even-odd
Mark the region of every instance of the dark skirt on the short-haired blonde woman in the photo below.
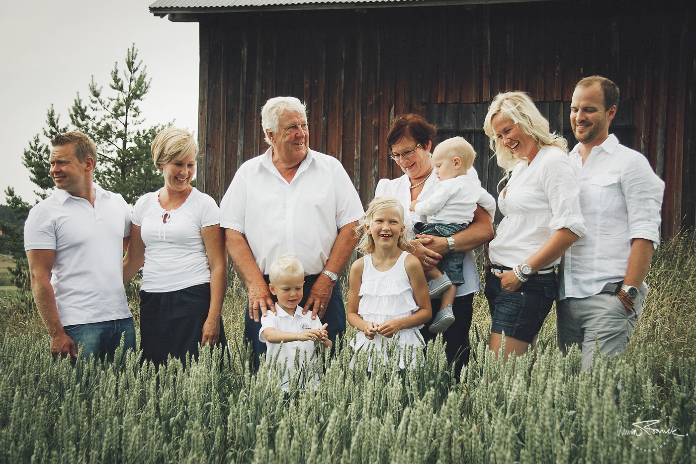
[[[198,344],[203,340],[203,324],[210,309],[210,284],[199,284],[171,292],[140,291],[140,345],[143,360],[155,366],[167,357],[186,364],[187,353],[198,360]],[[218,343],[227,346],[220,318]]]

